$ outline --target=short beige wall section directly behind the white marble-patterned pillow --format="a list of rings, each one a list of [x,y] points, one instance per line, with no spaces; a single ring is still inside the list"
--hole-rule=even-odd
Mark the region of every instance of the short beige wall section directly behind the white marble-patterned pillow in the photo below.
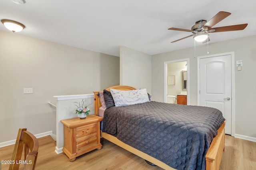
[[[120,85],[146,88],[151,94],[151,55],[121,46]]]

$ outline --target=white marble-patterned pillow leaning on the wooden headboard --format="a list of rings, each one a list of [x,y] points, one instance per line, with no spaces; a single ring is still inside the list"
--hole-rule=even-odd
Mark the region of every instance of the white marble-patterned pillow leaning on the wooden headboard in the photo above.
[[[110,88],[115,106],[128,106],[149,102],[146,88],[139,90],[116,90]]]

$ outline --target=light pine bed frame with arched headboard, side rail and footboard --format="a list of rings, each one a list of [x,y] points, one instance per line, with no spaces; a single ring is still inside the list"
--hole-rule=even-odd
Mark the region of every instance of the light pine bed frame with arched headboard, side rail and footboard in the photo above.
[[[131,86],[113,86],[110,88],[118,89],[118,90],[134,90],[135,88]],[[110,90],[110,88],[107,88],[106,90]],[[99,97],[97,96],[98,92],[102,91],[96,91],[94,92],[94,114],[98,115],[99,108],[101,106]],[[210,148],[208,149],[208,152],[206,153],[206,170],[219,170],[220,168],[220,162],[222,159],[222,154],[224,151],[225,146],[225,124],[226,121],[221,125],[221,127],[218,129],[218,135],[213,139]],[[165,169],[165,170],[174,170],[174,168],[171,168],[167,164],[161,162],[160,160],[157,160],[156,158],[153,158],[152,156],[149,156],[148,154],[141,152],[138,149],[135,149],[131,147],[130,145],[127,145],[123,143],[122,141],[118,140],[116,137],[108,134],[100,132],[100,135],[107,139],[108,141],[124,148],[125,150],[128,150],[129,152],[132,152],[133,154],[136,154],[137,156],[148,160],[149,162],[152,162],[153,164],[156,164],[157,166]]]

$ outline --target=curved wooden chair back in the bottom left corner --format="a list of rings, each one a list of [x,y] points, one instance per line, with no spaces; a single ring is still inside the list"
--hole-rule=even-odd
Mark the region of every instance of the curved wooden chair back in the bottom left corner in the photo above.
[[[24,160],[21,160],[23,146]],[[38,140],[32,133],[28,132],[26,128],[19,129],[12,154],[12,162],[14,162],[14,164],[10,164],[9,170],[18,170],[20,164],[24,165],[24,170],[34,170],[38,147]]]

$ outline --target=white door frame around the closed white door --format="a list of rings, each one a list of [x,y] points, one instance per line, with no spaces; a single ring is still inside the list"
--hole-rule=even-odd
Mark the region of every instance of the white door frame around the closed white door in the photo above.
[[[223,55],[231,55],[231,90],[232,90],[232,100],[231,100],[231,136],[234,137],[235,135],[235,52],[228,52],[228,53],[220,53],[214,55],[206,55],[197,57],[197,103],[198,106],[200,104],[200,59],[203,58],[210,58],[210,57],[218,57]]]

